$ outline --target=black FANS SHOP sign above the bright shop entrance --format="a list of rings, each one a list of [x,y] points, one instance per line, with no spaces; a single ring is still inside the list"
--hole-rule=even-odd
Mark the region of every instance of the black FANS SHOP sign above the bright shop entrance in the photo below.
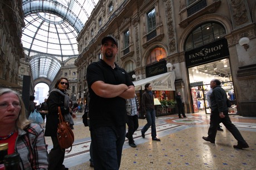
[[[186,66],[209,63],[209,61],[223,59],[227,56],[229,56],[228,42],[226,39],[220,39],[203,47],[186,51]]]

